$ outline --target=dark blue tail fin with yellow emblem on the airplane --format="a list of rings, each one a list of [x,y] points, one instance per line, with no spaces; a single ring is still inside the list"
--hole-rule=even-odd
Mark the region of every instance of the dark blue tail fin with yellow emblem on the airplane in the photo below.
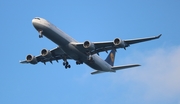
[[[116,50],[112,49],[111,52],[109,53],[109,55],[107,56],[106,60],[105,60],[111,66],[114,66],[115,53],[116,53]]]

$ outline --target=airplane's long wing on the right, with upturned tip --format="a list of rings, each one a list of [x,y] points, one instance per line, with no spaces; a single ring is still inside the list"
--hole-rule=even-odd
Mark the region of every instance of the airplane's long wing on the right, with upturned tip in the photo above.
[[[131,44],[150,41],[153,39],[158,39],[161,37],[161,35],[162,34],[160,34],[158,36],[153,36],[153,37],[137,38],[137,39],[130,39],[130,40],[120,40],[120,39],[116,38],[114,41],[92,42],[89,44],[91,44],[91,45],[93,44],[94,49],[92,49],[90,52],[91,52],[91,54],[95,54],[95,53],[98,54],[99,52],[108,51],[108,50],[117,49],[117,48],[126,49],[126,47],[130,46]],[[117,42],[117,44],[116,44],[116,42]],[[84,50],[84,52],[87,51],[87,49],[84,48],[84,46],[83,46],[84,43],[72,43],[72,44],[74,46],[76,46],[77,48],[79,48],[80,50],[82,50],[82,51]]]

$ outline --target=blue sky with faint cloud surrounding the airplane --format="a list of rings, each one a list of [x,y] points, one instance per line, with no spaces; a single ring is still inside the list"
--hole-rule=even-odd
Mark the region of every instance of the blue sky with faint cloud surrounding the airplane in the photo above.
[[[180,104],[179,0],[4,0],[0,3],[1,104]],[[34,17],[43,17],[79,42],[133,39],[162,33],[159,40],[119,49],[115,65],[142,66],[91,75],[86,65],[64,69],[23,65],[57,45],[38,38]],[[105,59],[107,54],[100,53]]]

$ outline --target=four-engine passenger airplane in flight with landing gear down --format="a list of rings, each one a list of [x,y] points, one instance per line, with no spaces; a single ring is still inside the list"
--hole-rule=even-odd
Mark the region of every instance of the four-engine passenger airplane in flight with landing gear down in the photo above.
[[[46,62],[52,63],[53,61],[58,62],[58,60],[63,60],[63,66],[67,69],[71,68],[67,60],[73,59],[77,65],[85,63],[92,69],[95,69],[91,73],[92,75],[104,72],[116,72],[117,70],[140,66],[139,64],[114,66],[116,49],[124,48],[126,50],[132,44],[158,39],[162,35],[130,40],[115,38],[113,41],[78,42],[44,18],[35,17],[32,19],[32,24],[38,31],[39,38],[45,36],[58,46],[52,50],[42,49],[41,54],[38,56],[29,54],[26,56],[26,60],[20,61],[20,63],[35,65],[38,62],[42,62],[46,65]],[[108,53],[109,50],[111,52],[105,60],[100,58],[100,52]]]

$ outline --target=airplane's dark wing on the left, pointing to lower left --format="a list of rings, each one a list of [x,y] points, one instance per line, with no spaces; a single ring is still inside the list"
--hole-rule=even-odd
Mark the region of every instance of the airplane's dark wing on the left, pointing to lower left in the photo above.
[[[57,47],[55,49],[52,49],[49,51],[50,55],[48,55],[48,57],[46,56],[32,56],[32,58],[35,59],[34,63],[32,61],[29,60],[24,60],[24,61],[20,61],[20,63],[32,63],[32,64],[37,64],[38,62],[42,62],[44,64],[46,64],[46,62],[51,62],[52,61],[57,61],[61,60],[61,59],[71,59],[67,54],[65,54],[62,49],[60,47]]]

